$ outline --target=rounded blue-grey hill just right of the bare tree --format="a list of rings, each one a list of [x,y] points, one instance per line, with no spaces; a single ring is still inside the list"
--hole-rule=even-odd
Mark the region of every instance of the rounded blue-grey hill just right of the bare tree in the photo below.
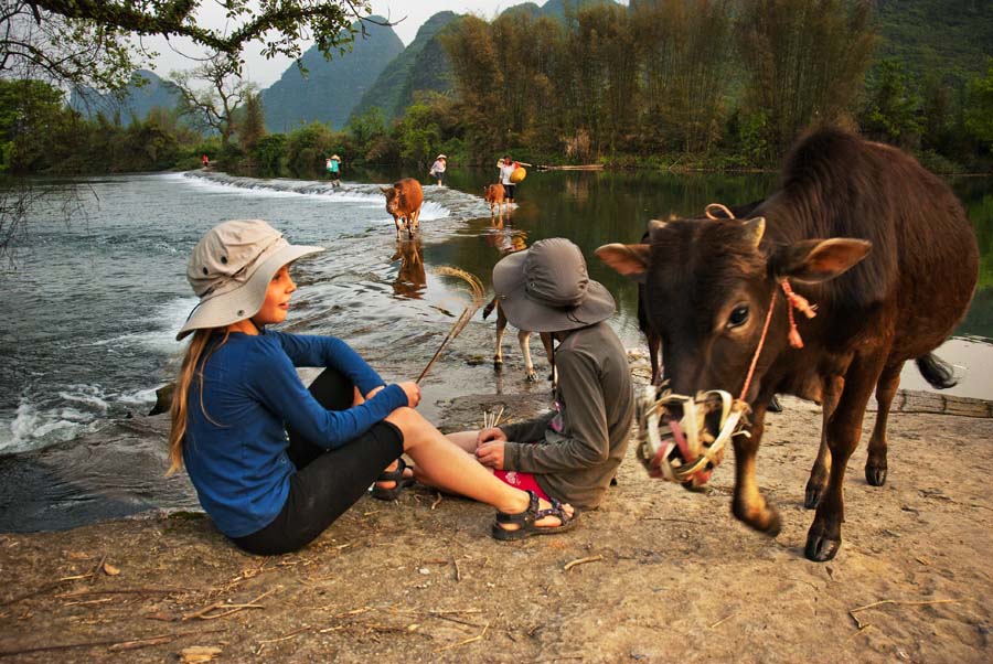
[[[378,17],[373,17],[378,18]],[[366,23],[369,35],[356,35],[352,51],[331,61],[311,46],[301,56],[305,78],[296,65],[261,93],[269,131],[292,131],[314,120],[341,129],[352,109],[389,62],[404,50],[392,28]]]

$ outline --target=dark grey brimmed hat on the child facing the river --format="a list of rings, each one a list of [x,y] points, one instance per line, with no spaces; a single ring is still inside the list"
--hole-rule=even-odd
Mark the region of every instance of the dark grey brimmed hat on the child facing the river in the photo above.
[[[503,258],[493,267],[493,290],[515,328],[563,332],[613,314],[613,297],[589,278],[579,247],[549,237]]]

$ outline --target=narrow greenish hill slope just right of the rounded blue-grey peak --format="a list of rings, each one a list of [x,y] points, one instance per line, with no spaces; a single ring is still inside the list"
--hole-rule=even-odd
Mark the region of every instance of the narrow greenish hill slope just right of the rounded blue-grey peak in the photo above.
[[[442,11],[425,21],[410,45],[386,65],[362,96],[352,115],[377,106],[385,119],[391,120],[404,114],[417,90],[451,92],[451,63],[437,36],[458,18],[455,12]]]

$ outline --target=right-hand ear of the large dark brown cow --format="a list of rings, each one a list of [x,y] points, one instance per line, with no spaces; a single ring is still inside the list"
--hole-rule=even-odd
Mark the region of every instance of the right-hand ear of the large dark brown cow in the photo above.
[[[850,237],[805,239],[778,249],[770,258],[770,267],[777,277],[818,283],[843,274],[868,256],[872,248],[872,243]]]

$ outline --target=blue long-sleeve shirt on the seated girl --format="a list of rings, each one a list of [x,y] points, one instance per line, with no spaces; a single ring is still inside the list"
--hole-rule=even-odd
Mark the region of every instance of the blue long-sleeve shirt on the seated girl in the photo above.
[[[361,406],[328,410],[297,375],[297,366],[333,366],[362,394],[383,379],[346,343],[333,336],[232,333],[209,346],[200,379],[186,396],[183,461],[200,504],[228,537],[250,535],[282,510],[296,472],[286,453],[286,425],[333,449],[407,405],[389,385]],[[211,352],[213,351],[213,352]]]

